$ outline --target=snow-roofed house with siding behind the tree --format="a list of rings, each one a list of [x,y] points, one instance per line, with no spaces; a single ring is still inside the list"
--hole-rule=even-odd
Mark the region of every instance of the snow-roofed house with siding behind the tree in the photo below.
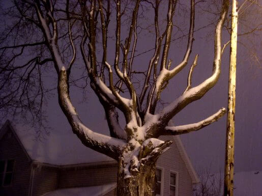
[[[0,195],[113,196],[117,162],[84,147],[74,136],[52,135],[34,141],[7,121],[0,129]],[[157,161],[157,193],[191,196],[198,177],[179,136]],[[70,140],[68,140],[70,139]]]

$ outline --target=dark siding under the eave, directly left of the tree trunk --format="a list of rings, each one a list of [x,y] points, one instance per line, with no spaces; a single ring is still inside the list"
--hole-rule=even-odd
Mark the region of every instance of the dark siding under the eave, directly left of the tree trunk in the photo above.
[[[117,182],[117,164],[65,167],[60,171],[59,188],[98,186]]]

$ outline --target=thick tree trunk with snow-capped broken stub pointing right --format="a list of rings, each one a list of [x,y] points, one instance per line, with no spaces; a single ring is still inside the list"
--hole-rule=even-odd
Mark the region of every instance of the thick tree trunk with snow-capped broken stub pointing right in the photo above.
[[[133,144],[128,143],[119,158],[117,195],[155,196],[156,161],[172,141],[150,138]]]

